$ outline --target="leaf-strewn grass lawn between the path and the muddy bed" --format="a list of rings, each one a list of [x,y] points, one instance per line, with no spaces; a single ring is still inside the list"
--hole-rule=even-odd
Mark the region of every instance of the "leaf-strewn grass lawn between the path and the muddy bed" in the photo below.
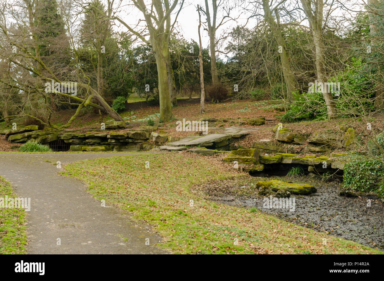
[[[145,168],[146,161],[151,169]],[[199,155],[109,157],[68,164],[65,170],[62,175],[83,180],[98,200],[104,199],[131,212],[136,220],[153,225],[163,237],[156,245],[173,253],[381,253],[258,210],[204,199],[198,189],[191,189],[192,184],[238,174]],[[327,239],[326,246],[322,238]]]

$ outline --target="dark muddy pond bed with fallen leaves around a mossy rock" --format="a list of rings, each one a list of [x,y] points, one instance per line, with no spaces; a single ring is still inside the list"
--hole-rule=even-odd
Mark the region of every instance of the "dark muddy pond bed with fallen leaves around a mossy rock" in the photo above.
[[[291,211],[290,208],[269,208],[269,203],[264,204],[264,198],[269,200],[269,196],[258,196],[254,186],[259,180],[271,179],[310,183],[317,192],[311,195],[291,195],[295,198],[294,210],[292,206]],[[256,207],[282,220],[384,250],[384,207],[380,200],[375,195],[342,197],[339,196],[340,187],[339,181],[248,177],[206,183],[200,188],[207,194],[207,198],[215,202],[237,207]]]

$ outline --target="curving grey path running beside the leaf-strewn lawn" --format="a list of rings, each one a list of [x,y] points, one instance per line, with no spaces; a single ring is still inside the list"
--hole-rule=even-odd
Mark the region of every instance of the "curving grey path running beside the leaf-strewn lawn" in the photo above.
[[[86,192],[78,180],[62,177],[52,163],[144,153],[0,154],[0,175],[19,197],[31,198],[29,254],[161,254],[161,238]],[[49,160],[52,163],[44,162]],[[60,238],[61,245],[58,244]],[[149,245],[146,241],[149,238]]]

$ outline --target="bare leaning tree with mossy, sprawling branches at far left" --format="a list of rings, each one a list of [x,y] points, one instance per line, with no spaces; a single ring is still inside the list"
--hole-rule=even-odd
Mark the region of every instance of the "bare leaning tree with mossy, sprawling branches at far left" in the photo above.
[[[0,6],[0,33],[6,42],[0,47],[0,60],[6,61],[11,68],[20,69],[18,73],[13,75],[12,81],[1,77],[0,79],[4,85],[17,89],[20,94],[25,95],[20,113],[58,130],[69,127],[80,113],[81,108],[86,106],[105,111],[116,121],[124,121],[108,105],[97,89],[92,88],[89,83],[84,83],[84,75],[79,64],[69,67],[71,71],[68,71],[69,74],[65,79],[58,73],[54,73],[50,64],[43,62],[40,57],[40,46],[34,25],[35,10],[38,4],[39,0],[23,0],[18,1],[17,5],[13,2],[2,2]],[[72,53],[67,54],[70,60],[76,57],[76,51],[72,51]],[[78,89],[76,89],[76,94],[56,88],[47,90],[44,86],[47,83],[54,83],[59,88],[63,85],[68,86],[69,83],[76,85]],[[52,93],[66,99],[66,101],[61,102],[77,106],[75,114],[63,126],[55,126],[50,122],[52,111],[48,100]],[[92,99],[95,99],[98,104],[91,102]],[[41,103],[41,100],[44,102]],[[36,114],[39,109],[48,115],[46,120]]]

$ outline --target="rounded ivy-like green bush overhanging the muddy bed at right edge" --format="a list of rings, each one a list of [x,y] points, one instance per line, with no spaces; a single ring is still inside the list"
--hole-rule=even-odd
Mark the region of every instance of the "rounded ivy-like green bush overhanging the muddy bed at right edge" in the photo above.
[[[384,161],[364,157],[344,166],[344,188],[374,192],[384,198]]]

